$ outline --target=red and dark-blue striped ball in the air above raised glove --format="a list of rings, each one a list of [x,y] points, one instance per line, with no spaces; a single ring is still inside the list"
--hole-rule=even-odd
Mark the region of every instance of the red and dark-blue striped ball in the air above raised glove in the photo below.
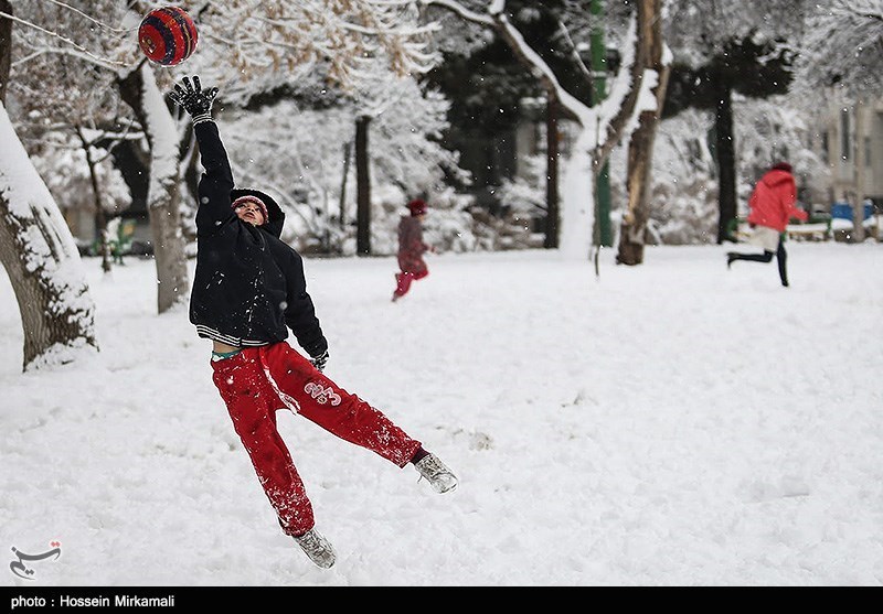
[[[179,7],[153,9],[138,26],[138,45],[151,62],[174,66],[196,49],[196,24]]]

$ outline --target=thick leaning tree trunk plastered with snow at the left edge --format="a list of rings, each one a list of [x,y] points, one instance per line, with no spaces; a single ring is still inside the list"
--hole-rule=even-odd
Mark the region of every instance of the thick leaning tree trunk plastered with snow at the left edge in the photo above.
[[[0,261],[24,331],[23,370],[98,348],[74,237],[0,104]]]

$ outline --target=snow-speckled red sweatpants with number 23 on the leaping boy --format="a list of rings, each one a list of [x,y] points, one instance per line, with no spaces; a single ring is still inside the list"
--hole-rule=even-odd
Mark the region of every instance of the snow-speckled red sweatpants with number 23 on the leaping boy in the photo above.
[[[276,430],[277,410],[291,409],[400,467],[421,446],[380,410],[319,373],[286,342],[213,360],[212,369],[233,427],[287,535],[301,535],[316,521],[304,482]]]

